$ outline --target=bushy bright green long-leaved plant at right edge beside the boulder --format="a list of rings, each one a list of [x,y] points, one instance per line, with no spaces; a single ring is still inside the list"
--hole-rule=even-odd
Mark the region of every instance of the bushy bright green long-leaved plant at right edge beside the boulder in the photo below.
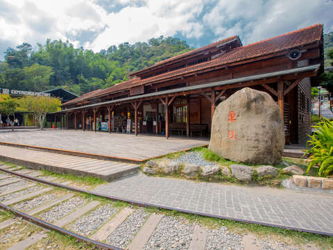
[[[307,173],[318,165],[318,176],[327,176],[333,172],[333,122],[325,119],[316,126],[314,135],[309,135],[307,147],[311,147],[305,153],[310,154],[311,162],[307,167]]]

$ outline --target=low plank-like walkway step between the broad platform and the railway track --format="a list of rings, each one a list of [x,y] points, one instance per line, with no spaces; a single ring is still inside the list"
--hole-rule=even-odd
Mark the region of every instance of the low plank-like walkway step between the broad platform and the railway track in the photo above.
[[[34,169],[46,169],[53,173],[94,176],[105,181],[133,174],[139,169],[139,165],[131,163],[96,160],[2,145],[0,145],[0,160]],[[15,180],[12,182],[15,182]]]

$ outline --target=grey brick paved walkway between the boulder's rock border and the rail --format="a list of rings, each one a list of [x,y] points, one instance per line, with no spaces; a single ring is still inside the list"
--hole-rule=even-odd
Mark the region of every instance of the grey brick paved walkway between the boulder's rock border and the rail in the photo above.
[[[230,219],[333,235],[333,194],[194,183],[138,174],[96,192]]]

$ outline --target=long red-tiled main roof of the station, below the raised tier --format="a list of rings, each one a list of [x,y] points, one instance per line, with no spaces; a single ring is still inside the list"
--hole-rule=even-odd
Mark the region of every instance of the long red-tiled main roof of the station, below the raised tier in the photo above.
[[[323,25],[315,24],[313,26],[309,26],[307,28],[302,28],[298,31],[291,31],[289,33],[285,33],[283,35],[278,35],[274,38],[269,38],[266,40],[262,40],[260,42],[255,42],[253,44],[248,44],[243,47],[237,47],[229,51],[228,53],[223,54],[214,60],[210,60],[208,62],[199,63],[198,65],[193,65],[190,67],[177,69],[172,72],[167,72],[164,74],[160,74],[157,76],[152,76],[150,78],[139,80],[139,78],[134,78],[129,81],[119,83],[110,88],[102,90],[101,92],[93,93],[89,95],[89,97],[97,97],[103,94],[110,94],[112,92],[116,92],[119,90],[128,89],[130,87],[135,87],[137,85],[142,85],[145,83],[153,83],[154,81],[160,81],[162,79],[171,78],[174,76],[182,76],[184,74],[189,74],[191,72],[200,72],[203,69],[209,69],[212,67],[217,67],[221,65],[228,65],[230,63],[236,63],[241,60],[247,60],[251,58],[257,58],[260,56],[266,56],[272,53],[276,53],[278,51],[284,51],[287,49],[291,49],[294,47],[300,47],[305,44],[311,44],[312,42],[316,42],[321,40],[321,35],[323,33]],[[209,45],[207,45],[209,46]],[[91,93],[91,92],[90,92]],[[88,93],[89,94],[89,93]],[[89,99],[89,97],[85,97],[85,99]],[[78,97],[80,98],[80,97]],[[77,102],[77,99],[73,99],[65,105]]]

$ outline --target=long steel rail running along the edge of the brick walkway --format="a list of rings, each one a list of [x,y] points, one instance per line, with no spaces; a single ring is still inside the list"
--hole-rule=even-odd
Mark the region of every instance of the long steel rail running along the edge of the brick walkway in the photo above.
[[[195,212],[195,211],[185,210],[185,209],[180,209],[180,208],[172,208],[170,206],[161,206],[161,205],[156,205],[156,204],[148,203],[148,202],[141,202],[141,201],[133,201],[133,200],[130,200],[130,199],[123,199],[121,197],[114,197],[114,196],[111,196],[111,195],[108,195],[108,194],[101,194],[101,193],[93,192],[93,191],[89,191],[89,190],[82,190],[80,188],[74,188],[74,187],[70,187],[68,185],[63,185],[63,184],[60,184],[60,183],[54,183],[52,181],[45,181],[41,178],[28,176],[26,174],[15,173],[15,172],[12,172],[8,169],[3,169],[1,167],[0,167],[0,171],[6,172],[8,174],[13,174],[13,175],[16,175],[16,176],[20,176],[22,178],[27,178],[31,181],[36,181],[36,182],[44,183],[44,184],[47,184],[47,185],[53,185],[53,186],[58,187],[58,188],[65,188],[67,190],[71,190],[71,191],[74,191],[74,192],[82,192],[82,193],[85,193],[85,194],[92,194],[92,195],[95,195],[97,197],[103,197],[103,198],[110,199],[112,201],[123,201],[123,202],[133,204],[135,206],[153,207],[153,208],[160,208],[160,209],[170,210],[170,211],[174,210],[174,211],[178,211],[180,213],[187,213],[187,214],[191,214],[191,215],[200,215],[200,216],[204,216],[204,217],[212,217],[212,218],[217,218],[217,219],[230,219],[234,222],[257,224],[257,225],[261,225],[261,226],[271,226],[271,227],[275,227],[275,228],[284,228],[284,229],[289,229],[289,230],[293,230],[293,231],[300,231],[300,232],[305,232],[305,233],[315,233],[315,234],[318,234],[318,235],[333,236],[333,233],[326,233],[326,232],[311,230],[311,229],[307,229],[307,228],[296,228],[296,227],[293,227],[293,226],[283,226],[283,225],[271,224],[271,223],[266,223],[266,222],[257,222],[257,221],[252,221],[252,220],[249,220],[249,219],[238,219],[238,218],[228,217],[228,216],[211,215],[211,214],[208,214],[208,213]]]

